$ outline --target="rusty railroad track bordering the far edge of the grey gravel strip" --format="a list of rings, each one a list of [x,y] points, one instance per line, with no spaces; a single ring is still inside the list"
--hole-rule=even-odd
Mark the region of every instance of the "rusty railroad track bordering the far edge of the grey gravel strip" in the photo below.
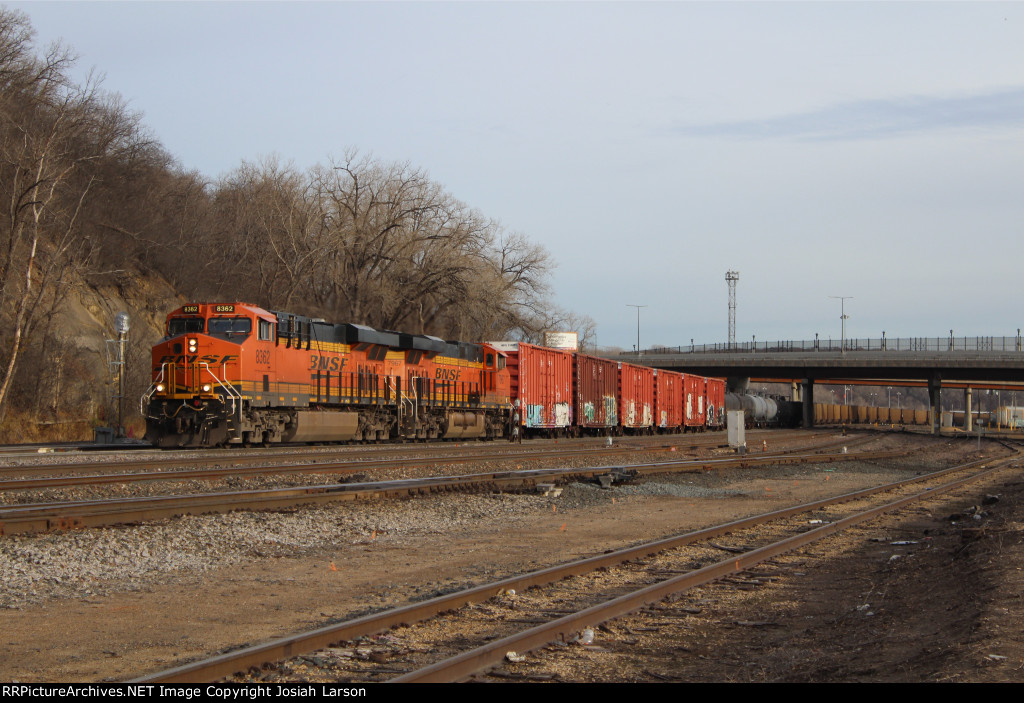
[[[870,439],[870,437],[865,437],[860,441]],[[847,446],[851,444],[851,442],[844,441]],[[903,453],[905,452],[760,453],[743,454],[730,458],[686,458],[646,464],[499,471],[462,476],[219,491],[190,495],[14,504],[0,508],[0,535],[118,525],[186,514],[227,513],[239,510],[283,510],[323,502],[396,498],[449,491],[528,490],[536,489],[539,484],[580,480],[597,480],[602,485],[610,485],[647,474],[813,462],[871,460],[899,456]]]

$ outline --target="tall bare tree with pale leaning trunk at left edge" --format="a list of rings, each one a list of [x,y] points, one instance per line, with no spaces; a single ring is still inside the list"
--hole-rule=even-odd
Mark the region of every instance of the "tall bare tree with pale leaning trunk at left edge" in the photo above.
[[[34,321],[85,258],[81,215],[93,166],[132,132],[95,80],[68,80],[70,52],[55,45],[36,58],[31,37],[25,15],[0,10],[0,412]]]

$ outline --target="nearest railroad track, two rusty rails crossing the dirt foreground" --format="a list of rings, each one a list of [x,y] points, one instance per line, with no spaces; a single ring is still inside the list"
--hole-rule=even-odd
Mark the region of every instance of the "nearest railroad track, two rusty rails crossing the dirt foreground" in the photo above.
[[[304,677],[325,680],[464,680],[551,643],[587,641],[587,629],[815,540],[1017,467],[1020,454],[982,459],[874,488],[803,503],[646,544],[506,578],[430,601],[154,673],[137,683],[215,680],[302,657]],[[845,506],[838,515],[839,507]],[[809,524],[807,514],[822,522]],[[713,540],[728,539],[730,544]],[[722,553],[728,554],[725,559]],[[718,555],[712,557],[711,555]],[[694,568],[694,563],[698,566]],[[573,578],[569,578],[573,577]],[[568,579],[568,580],[563,580]],[[552,585],[554,584],[554,585]],[[544,591],[527,588],[543,586]],[[453,613],[452,611],[458,611]],[[431,619],[449,613],[443,625]],[[425,624],[415,626],[413,623]],[[403,627],[408,626],[408,627]],[[359,639],[392,629],[383,646]],[[423,639],[418,627],[425,627]],[[449,641],[441,640],[446,633]],[[422,643],[429,642],[430,646]],[[332,647],[327,652],[317,652]],[[270,667],[270,672],[260,669]],[[285,664],[282,679],[298,664]],[[310,671],[310,668],[312,669]],[[398,675],[395,675],[398,674]]]

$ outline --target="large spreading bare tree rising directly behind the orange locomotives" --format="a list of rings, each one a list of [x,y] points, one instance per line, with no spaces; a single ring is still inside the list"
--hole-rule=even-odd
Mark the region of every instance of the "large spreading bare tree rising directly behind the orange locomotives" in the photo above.
[[[543,248],[459,202],[408,164],[355,152],[312,172],[330,253],[313,299],[336,318],[479,339],[543,307]]]

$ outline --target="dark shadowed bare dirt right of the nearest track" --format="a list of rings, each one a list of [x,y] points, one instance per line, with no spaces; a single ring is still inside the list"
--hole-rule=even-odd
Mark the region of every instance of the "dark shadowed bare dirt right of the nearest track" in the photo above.
[[[981,521],[973,512],[985,495]],[[1024,482],[1002,476],[701,587],[505,680],[1024,680]],[[909,542],[900,544],[898,542]]]

